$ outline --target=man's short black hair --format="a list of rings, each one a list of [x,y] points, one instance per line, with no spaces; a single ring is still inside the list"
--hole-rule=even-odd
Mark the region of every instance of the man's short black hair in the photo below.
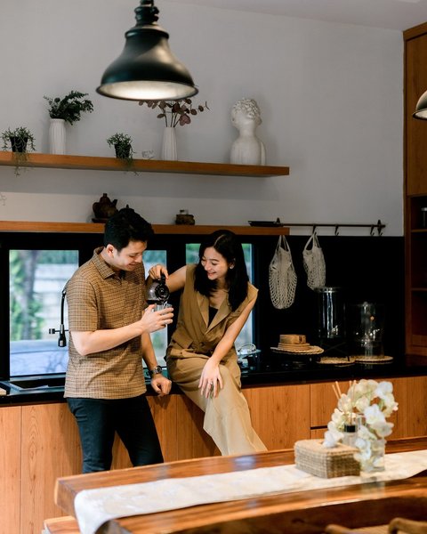
[[[104,247],[112,245],[118,252],[129,245],[129,241],[147,242],[154,235],[150,223],[126,206],[109,217],[104,230]]]

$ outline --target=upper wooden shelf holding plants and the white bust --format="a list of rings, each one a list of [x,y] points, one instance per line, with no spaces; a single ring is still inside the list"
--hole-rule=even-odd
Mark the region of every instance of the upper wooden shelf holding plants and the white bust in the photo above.
[[[0,166],[16,166],[13,152],[0,152]],[[21,167],[43,167],[52,169],[75,169],[92,171],[130,171],[136,173],[167,174],[210,174],[216,176],[286,176],[287,166],[231,165],[227,163],[203,163],[195,161],[159,161],[156,159],[133,159],[127,166],[117,158],[93,156],[68,156],[58,154],[30,153],[27,159],[19,161]]]

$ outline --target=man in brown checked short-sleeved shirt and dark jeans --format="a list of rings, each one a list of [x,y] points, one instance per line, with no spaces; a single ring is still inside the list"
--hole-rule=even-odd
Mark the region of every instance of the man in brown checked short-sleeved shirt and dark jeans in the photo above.
[[[152,235],[141,215],[121,209],[105,225],[104,247],[67,283],[65,397],[77,419],[84,473],[110,468],[116,432],[133,465],[163,462],[141,360],[154,391],[168,394],[171,382],[161,374],[149,334],[172,323],[173,309],[144,311],[142,254]]]

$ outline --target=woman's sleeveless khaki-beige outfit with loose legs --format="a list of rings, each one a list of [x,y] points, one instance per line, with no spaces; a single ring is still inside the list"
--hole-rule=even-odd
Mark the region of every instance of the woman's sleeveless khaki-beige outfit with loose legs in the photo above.
[[[166,352],[169,376],[181,390],[205,412],[203,428],[222,455],[249,454],[266,450],[251,424],[246,399],[241,392],[240,368],[236,349],[222,359],[223,387],[217,397],[202,396],[198,382],[206,360],[214,352],[227,328],[256,298],[257,289],[248,284],[246,300],[231,311],[227,299],[214,320],[209,322],[209,299],[194,289],[196,265],[187,267],[187,279],[181,295],[178,323]]]

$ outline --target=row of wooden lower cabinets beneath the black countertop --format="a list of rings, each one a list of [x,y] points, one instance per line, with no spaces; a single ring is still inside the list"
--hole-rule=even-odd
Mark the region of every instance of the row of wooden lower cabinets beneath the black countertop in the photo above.
[[[399,410],[392,438],[427,435],[427,376],[394,378]],[[342,392],[348,382],[340,383]],[[268,449],[292,449],[294,442],[322,438],[336,399],[331,383],[271,385],[243,390],[254,429]],[[202,430],[203,413],[184,395],[149,396],[166,461],[219,455]],[[54,505],[58,477],[80,473],[77,424],[64,402],[0,408],[0,534],[39,534]],[[120,441],[113,468],[130,467]]]

